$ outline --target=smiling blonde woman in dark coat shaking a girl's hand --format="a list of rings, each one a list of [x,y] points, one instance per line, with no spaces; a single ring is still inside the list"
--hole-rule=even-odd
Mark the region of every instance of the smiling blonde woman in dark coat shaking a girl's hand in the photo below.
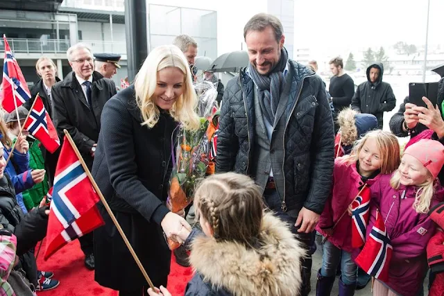
[[[167,285],[171,252],[164,239],[189,224],[167,206],[173,131],[198,128],[191,72],[167,45],[146,58],[134,85],[103,107],[92,174],[123,232],[157,286]],[[105,209],[94,232],[95,280],[119,295],[144,295],[147,283]]]

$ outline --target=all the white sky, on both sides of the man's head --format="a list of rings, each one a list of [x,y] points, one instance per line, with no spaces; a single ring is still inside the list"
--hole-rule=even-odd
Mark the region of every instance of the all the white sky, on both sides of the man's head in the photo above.
[[[429,44],[443,44],[444,49],[444,0],[429,1]],[[219,55],[241,49],[244,25],[268,5],[267,0],[147,2],[216,10]],[[294,0],[294,15],[294,46],[309,48],[313,55],[348,55],[398,41],[425,44],[427,0]]]

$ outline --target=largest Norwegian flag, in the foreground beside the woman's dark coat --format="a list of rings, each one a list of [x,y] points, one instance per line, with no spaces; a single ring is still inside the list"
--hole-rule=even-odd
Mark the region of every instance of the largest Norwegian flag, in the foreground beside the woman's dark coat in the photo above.
[[[65,137],[54,177],[45,259],[70,241],[104,224],[96,208],[99,200],[74,148]]]

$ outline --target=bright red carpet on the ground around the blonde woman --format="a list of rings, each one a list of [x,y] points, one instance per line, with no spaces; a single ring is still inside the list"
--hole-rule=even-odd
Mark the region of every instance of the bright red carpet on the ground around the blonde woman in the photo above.
[[[38,244],[37,244],[38,248]],[[36,248],[36,252],[37,252]],[[117,296],[117,291],[104,288],[94,281],[94,271],[89,271],[83,265],[84,255],[80,250],[78,241],[65,245],[61,250],[53,254],[47,261],[44,261],[44,241],[42,249],[37,258],[39,270],[54,272],[54,279],[60,281],[60,285],[44,292],[39,292],[42,296]],[[183,268],[176,263],[174,256],[171,256],[171,272],[168,278],[168,289],[173,296],[184,295],[187,282],[192,277],[191,268]]]

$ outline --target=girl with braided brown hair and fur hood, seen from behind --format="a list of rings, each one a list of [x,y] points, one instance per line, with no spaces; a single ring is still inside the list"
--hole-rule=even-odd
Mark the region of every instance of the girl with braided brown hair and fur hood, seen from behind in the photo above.
[[[289,227],[264,211],[262,194],[246,175],[205,179],[194,197],[202,232],[171,233],[191,246],[196,270],[185,295],[298,295],[300,247]],[[148,294],[171,295],[164,287]]]

